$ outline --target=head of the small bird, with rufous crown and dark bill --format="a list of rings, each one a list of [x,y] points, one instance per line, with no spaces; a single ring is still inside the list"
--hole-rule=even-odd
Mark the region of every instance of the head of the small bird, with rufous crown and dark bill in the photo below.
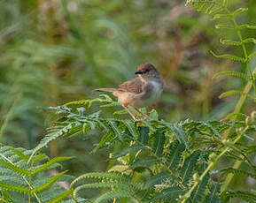
[[[138,66],[138,71],[135,72],[140,78],[145,80],[159,79],[159,71],[152,64],[141,64]]]

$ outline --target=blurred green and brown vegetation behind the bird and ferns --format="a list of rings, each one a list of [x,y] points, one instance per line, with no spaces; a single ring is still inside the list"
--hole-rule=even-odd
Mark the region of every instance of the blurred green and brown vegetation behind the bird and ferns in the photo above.
[[[237,97],[220,100],[218,96],[242,89],[244,83],[212,79],[213,74],[245,71],[245,67],[217,60],[209,50],[236,55],[242,51],[221,45],[221,36],[236,36],[214,29],[206,15],[184,4],[180,0],[0,0],[1,142],[35,147],[52,119],[42,107],[95,98],[94,88],[133,79],[136,66],[144,63],[155,64],[165,79],[164,93],[152,107],[160,118],[178,122],[225,117]],[[238,21],[256,24],[256,1],[229,4],[248,7]],[[253,32],[243,34],[255,36]],[[244,113],[252,109],[255,106],[247,101]],[[76,155],[66,166],[75,175],[103,170],[108,161],[105,151],[89,154],[98,139],[94,132],[58,140],[49,153]]]

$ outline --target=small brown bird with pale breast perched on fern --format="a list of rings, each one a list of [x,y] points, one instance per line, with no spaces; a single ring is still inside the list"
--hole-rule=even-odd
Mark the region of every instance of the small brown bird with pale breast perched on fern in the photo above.
[[[128,109],[133,107],[146,120],[151,118],[139,110],[157,102],[163,91],[163,79],[153,64],[140,64],[135,72],[135,79],[128,80],[117,88],[97,88],[98,92],[110,92],[116,96],[122,107],[137,121],[138,119]]]

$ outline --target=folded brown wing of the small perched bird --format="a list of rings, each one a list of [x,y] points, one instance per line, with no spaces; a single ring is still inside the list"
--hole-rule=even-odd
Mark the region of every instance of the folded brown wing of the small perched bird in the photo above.
[[[143,82],[138,77],[120,84],[118,91],[140,94],[143,91]]]

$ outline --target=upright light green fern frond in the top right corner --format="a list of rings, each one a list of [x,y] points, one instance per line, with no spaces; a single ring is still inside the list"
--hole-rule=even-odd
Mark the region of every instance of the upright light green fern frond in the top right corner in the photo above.
[[[197,11],[202,11],[205,12],[206,14],[209,14],[212,16],[213,20],[223,20],[225,19],[225,24],[217,24],[215,28],[217,29],[230,29],[234,33],[237,34],[237,37],[239,41],[234,41],[233,39],[231,40],[223,40],[221,39],[221,43],[224,45],[233,45],[233,46],[238,46],[241,49],[243,49],[244,56],[234,56],[230,54],[223,54],[223,55],[216,55],[213,51],[211,53],[213,56],[218,57],[218,58],[226,58],[229,60],[233,61],[238,61],[245,63],[247,66],[248,74],[247,76],[244,72],[234,72],[234,71],[221,71],[215,76],[219,75],[232,75],[232,76],[237,76],[242,79],[248,79],[249,81],[252,82],[253,86],[253,91],[254,95],[256,95],[256,86],[255,86],[255,77],[253,73],[253,68],[250,65],[250,60],[252,57],[255,56],[254,53],[249,53],[248,49],[246,48],[246,43],[252,42],[255,43],[255,39],[252,37],[244,38],[241,34],[241,30],[244,28],[252,28],[254,29],[255,26],[250,26],[247,24],[242,24],[238,25],[237,24],[237,16],[240,16],[244,14],[248,9],[247,8],[238,8],[236,11],[229,11],[229,4],[227,0],[187,0],[186,5],[194,8]],[[251,94],[248,93],[243,93],[239,92],[236,90],[231,90],[229,92],[226,92],[224,94],[221,94],[220,98],[231,95],[231,94],[244,94],[245,97],[250,97],[255,100],[255,97]]]

